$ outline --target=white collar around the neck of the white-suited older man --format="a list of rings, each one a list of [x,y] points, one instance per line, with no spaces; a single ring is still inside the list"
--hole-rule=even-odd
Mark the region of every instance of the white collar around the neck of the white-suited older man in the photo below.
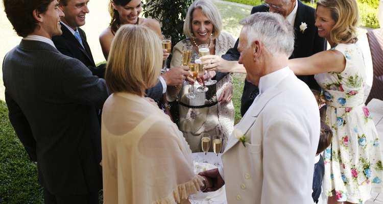
[[[280,81],[290,74],[289,66],[283,67],[277,71],[264,75],[259,79],[259,94],[264,93],[267,89],[277,85]]]

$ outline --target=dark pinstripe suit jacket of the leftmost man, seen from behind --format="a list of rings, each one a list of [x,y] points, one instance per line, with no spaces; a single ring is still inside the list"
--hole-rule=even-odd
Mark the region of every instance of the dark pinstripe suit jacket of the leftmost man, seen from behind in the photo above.
[[[109,91],[79,60],[50,44],[21,40],[4,58],[3,80],[11,124],[39,181],[56,195],[102,188],[101,131],[94,108]]]

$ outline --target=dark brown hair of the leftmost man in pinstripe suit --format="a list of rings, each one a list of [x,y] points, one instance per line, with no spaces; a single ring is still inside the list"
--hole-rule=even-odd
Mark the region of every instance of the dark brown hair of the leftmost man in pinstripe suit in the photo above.
[[[53,0],[4,0],[4,10],[18,36],[27,37],[38,26],[33,11],[45,13]]]

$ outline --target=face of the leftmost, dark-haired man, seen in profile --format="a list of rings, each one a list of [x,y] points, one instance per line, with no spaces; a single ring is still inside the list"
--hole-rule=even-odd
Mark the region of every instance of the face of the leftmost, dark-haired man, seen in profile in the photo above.
[[[39,14],[40,16],[40,32],[41,35],[52,39],[52,36],[61,35],[60,17],[64,17],[64,13],[59,9],[57,0],[51,2],[48,9]]]

